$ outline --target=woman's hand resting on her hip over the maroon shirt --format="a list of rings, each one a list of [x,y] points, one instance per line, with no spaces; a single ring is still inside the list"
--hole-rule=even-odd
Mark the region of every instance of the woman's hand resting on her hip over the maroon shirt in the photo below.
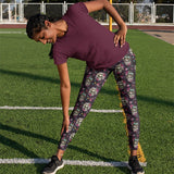
[[[117,44],[120,44],[121,47],[123,47],[125,45],[126,34],[127,34],[126,25],[121,26],[119,28],[119,30],[115,33],[115,36],[114,36],[114,45],[115,45],[115,47],[117,46]]]

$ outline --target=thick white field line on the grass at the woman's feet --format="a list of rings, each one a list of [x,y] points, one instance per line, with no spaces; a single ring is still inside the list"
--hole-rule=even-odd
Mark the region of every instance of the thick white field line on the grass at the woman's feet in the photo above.
[[[0,164],[41,164],[48,163],[48,159],[0,159]],[[84,165],[84,166],[127,166],[128,162],[103,162],[103,161],[79,161],[64,160],[65,165]],[[147,163],[141,163],[141,166],[147,166]]]

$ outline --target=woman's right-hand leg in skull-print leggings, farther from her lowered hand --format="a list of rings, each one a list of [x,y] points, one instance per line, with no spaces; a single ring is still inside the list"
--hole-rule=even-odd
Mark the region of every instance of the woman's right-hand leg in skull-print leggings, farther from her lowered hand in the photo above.
[[[137,154],[139,141],[139,114],[135,87],[136,61],[132,51],[114,67],[114,76],[119,86],[123,110],[126,114],[128,142],[132,156]]]

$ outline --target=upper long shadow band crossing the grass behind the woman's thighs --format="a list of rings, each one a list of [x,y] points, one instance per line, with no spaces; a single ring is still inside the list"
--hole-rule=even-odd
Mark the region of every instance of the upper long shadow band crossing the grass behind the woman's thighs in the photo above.
[[[18,77],[25,77],[25,78],[29,78],[29,79],[34,79],[34,80],[45,80],[45,82],[48,82],[48,83],[60,84],[60,79],[58,79],[58,78],[34,75],[34,74],[29,74],[29,73],[22,73],[22,72],[2,70],[2,69],[0,69],[0,73],[8,74],[8,75],[13,75],[13,76],[18,76]],[[77,87],[77,88],[80,87],[79,83],[71,82],[71,85],[73,87]],[[100,92],[101,94],[107,94],[107,95],[116,95],[117,94],[116,90],[111,90],[111,89],[105,89],[105,88],[101,88]],[[167,105],[167,107],[173,107],[174,105],[174,102],[172,102],[172,101],[166,101],[166,100],[157,99],[157,98],[147,97],[147,96],[137,95],[137,99],[141,100],[141,101],[145,101],[145,102],[150,102],[151,104],[159,103],[159,104],[163,104],[163,105]]]

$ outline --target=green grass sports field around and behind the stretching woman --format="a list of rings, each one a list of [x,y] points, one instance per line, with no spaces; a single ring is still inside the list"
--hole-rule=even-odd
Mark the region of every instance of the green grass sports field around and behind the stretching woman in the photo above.
[[[2,32],[22,34],[2,34]],[[49,60],[49,45],[29,40],[24,29],[0,29],[0,107],[61,107],[59,75]],[[139,30],[127,41],[137,59],[137,99],[141,121],[140,145],[147,174],[174,172],[174,46]],[[74,105],[85,63],[69,60]],[[120,109],[111,75],[92,109]],[[0,159],[50,158],[57,150],[61,111],[0,110]],[[90,135],[90,136],[89,136]],[[89,113],[70,144],[64,159],[127,161],[122,113]],[[44,164],[0,164],[0,174],[38,174]],[[172,172],[173,171],[173,172]],[[128,174],[126,167],[65,165],[60,174]]]

